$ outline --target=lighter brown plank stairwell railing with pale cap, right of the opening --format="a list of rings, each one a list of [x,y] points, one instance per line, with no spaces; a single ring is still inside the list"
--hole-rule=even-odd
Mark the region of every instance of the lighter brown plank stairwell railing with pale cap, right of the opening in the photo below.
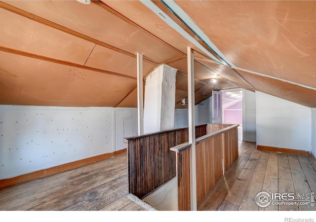
[[[197,206],[237,159],[237,126],[208,124],[209,131],[219,130],[196,139]],[[176,152],[178,210],[190,210],[190,148],[184,143],[170,149]]]

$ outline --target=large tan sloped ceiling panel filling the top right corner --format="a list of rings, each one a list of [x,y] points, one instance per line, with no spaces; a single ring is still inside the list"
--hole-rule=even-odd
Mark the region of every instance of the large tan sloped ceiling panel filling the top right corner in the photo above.
[[[235,66],[316,87],[316,1],[177,3]]]

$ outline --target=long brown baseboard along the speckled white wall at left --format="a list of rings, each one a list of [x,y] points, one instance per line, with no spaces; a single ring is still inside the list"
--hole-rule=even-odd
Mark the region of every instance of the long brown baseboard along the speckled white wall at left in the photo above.
[[[0,180],[0,189],[3,189],[5,187],[9,187],[12,185],[17,185],[17,184],[21,184],[24,182],[28,182],[28,181],[32,181],[32,180],[36,180],[36,179],[40,179],[43,177],[48,177],[48,176],[52,176],[55,174],[59,174],[62,172],[66,172],[69,170],[73,170],[91,163],[95,163],[101,160],[105,160],[108,159],[110,157],[122,154],[126,152],[126,148],[118,150],[118,151],[114,151],[111,153],[105,153],[105,154],[101,154],[101,155],[97,155],[97,156],[92,156],[92,157],[88,157],[85,159],[81,159],[81,160],[77,160],[71,163],[66,163],[66,164],[62,164],[59,166],[55,166],[55,167],[51,167],[48,169],[43,169],[43,170],[39,170],[39,171],[35,171],[32,173],[28,173],[28,174],[23,174],[17,177],[12,177],[12,178],[8,178],[8,179],[2,179]]]

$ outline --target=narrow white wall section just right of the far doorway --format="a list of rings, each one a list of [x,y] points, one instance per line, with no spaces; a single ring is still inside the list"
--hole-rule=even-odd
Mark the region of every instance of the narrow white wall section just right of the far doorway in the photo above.
[[[242,140],[256,142],[256,94],[242,90]]]

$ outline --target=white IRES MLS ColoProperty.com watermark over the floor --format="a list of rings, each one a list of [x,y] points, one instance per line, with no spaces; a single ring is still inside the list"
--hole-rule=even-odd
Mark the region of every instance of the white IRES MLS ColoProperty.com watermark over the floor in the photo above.
[[[256,195],[255,201],[259,207],[268,207],[272,205],[311,205],[315,206],[314,192],[311,193],[268,193],[265,191],[259,192]]]

